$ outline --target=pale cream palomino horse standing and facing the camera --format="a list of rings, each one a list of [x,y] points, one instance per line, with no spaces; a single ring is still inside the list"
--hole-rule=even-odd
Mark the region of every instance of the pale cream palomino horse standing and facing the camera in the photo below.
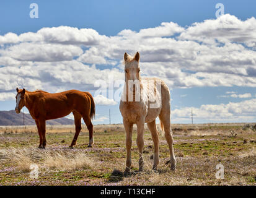
[[[176,160],[174,156],[173,138],[170,128],[170,92],[167,85],[160,79],[142,79],[139,75],[139,53],[134,57],[125,53],[125,86],[123,97],[120,101],[120,111],[123,116],[123,125],[126,132],[126,169],[125,173],[130,171],[131,167],[131,144],[133,124],[137,125],[137,140],[136,143],[139,149],[139,171],[143,171],[143,132],[144,123],[148,124],[151,131],[152,140],[154,142],[154,165],[153,170],[157,169],[159,163],[159,137],[156,127],[157,116],[161,122],[162,131],[167,140],[170,150],[170,168],[175,170]],[[153,83],[147,83],[149,81]],[[137,86],[130,83],[138,82]],[[158,88],[156,88],[158,85]],[[133,90],[131,91],[131,88]],[[127,92],[128,90],[128,92]],[[130,93],[130,91],[132,93]],[[136,98],[139,94],[139,98]],[[156,95],[156,97],[154,97]],[[130,97],[131,96],[131,97]],[[147,100],[147,98],[149,100]],[[153,99],[153,100],[152,100]],[[158,103],[158,105],[153,105]],[[163,129],[164,128],[164,129]]]

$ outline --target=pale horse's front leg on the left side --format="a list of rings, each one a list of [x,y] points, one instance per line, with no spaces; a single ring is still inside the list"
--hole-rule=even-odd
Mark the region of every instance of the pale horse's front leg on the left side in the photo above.
[[[126,133],[126,168],[125,168],[125,174],[129,173],[131,168],[131,144],[132,144],[132,135],[133,135],[133,124],[129,123],[128,121],[125,121],[123,119],[123,126],[125,127],[125,133]]]

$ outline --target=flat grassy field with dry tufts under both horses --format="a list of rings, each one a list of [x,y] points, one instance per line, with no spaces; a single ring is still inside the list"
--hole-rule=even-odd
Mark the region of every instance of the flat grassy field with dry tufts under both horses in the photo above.
[[[250,124],[251,126],[254,124]],[[170,171],[169,150],[160,137],[160,162],[152,171],[153,144],[145,126],[144,172],[138,173],[136,127],[132,172],[123,177],[126,150],[122,124],[94,127],[95,145],[87,148],[85,126],[68,149],[74,126],[47,126],[45,150],[37,149],[35,126],[0,127],[1,185],[256,185],[256,131],[245,124],[172,124],[177,169]],[[216,179],[216,165],[224,179]],[[30,165],[38,178],[30,178]]]

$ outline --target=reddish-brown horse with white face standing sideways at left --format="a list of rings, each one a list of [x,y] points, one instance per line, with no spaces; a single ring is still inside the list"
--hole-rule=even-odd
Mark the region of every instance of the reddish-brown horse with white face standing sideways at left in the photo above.
[[[76,126],[76,134],[69,147],[76,145],[77,137],[82,129],[81,118],[84,119],[87,129],[89,130],[89,145],[94,144],[93,125],[90,119],[95,115],[95,103],[89,92],[80,92],[78,90],[69,90],[61,93],[48,93],[42,90],[29,92],[16,88],[16,113],[25,106],[29,110],[30,115],[35,119],[37,124],[40,144],[38,148],[45,149],[45,121],[48,119],[56,119],[67,116],[69,113],[74,114],[74,124]]]

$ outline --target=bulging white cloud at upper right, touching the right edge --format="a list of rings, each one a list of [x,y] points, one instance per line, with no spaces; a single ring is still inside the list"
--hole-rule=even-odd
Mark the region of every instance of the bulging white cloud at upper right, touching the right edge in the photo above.
[[[204,20],[201,23],[196,22],[182,32],[179,38],[200,41],[209,45],[239,42],[255,47],[256,19],[252,17],[242,21],[234,15],[225,14],[218,19]]]

